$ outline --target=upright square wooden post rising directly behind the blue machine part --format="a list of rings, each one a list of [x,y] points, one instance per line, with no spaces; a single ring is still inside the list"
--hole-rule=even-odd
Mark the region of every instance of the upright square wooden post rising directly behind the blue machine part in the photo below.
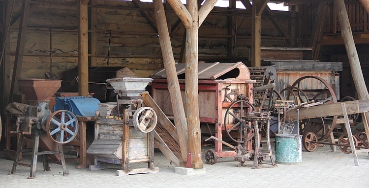
[[[78,0],[78,93],[89,95],[89,37],[88,37],[88,6]]]

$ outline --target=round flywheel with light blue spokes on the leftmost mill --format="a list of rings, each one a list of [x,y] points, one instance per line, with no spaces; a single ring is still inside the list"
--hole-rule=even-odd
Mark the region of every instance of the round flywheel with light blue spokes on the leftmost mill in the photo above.
[[[46,133],[53,141],[68,143],[76,137],[78,121],[76,116],[67,110],[58,110],[46,120]],[[57,137],[59,135],[59,137]],[[57,138],[59,138],[57,140]]]

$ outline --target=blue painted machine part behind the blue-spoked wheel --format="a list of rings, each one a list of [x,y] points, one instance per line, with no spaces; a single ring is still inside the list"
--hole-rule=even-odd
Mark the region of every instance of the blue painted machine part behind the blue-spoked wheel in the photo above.
[[[57,110],[68,110],[75,116],[95,116],[95,111],[99,109],[100,101],[97,98],[85,96],[62,96],[55,97],[54,112]]]

